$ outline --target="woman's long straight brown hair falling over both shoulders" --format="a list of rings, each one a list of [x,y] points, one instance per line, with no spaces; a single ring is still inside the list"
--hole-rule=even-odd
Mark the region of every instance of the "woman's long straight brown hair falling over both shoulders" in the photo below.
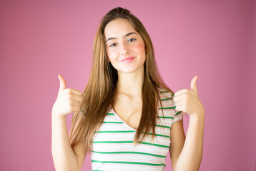
[[[173,93],[162,80],[154,58],[154,48],[151,38],[143,24],[129,10],[117,7],[109,11],[102,19],[94,39],[92,51],[92,71],[84,92],[82,93],[81,111],[73,113],[72,125],[69,131],[69,140],[74,151],[81,140],[85,141],[87,152],[91,154],[91,141],[94,131],[99,130],[100,125],[109,110],[114,106],[117,88],[117,70],[108,61],[104,28],[114,19],[127,19],[139,33],[145,44],[146,61],[144,63],[144,83],[142,86],[142,116],[134,137],[134,143],[139,144],[152,130],[152,138],[155,136],[156,116],[160,101],[159,88]],[[161,107],[162,104],[160,103]],[[144,132],[144,133],[143,133]],[[140,135],[142,139],[139,140]]]

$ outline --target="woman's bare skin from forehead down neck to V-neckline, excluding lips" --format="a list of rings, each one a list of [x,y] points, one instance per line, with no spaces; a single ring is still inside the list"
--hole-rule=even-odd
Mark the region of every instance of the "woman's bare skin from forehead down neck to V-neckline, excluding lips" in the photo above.
[[[137,129],[142,113],[142,84],[144,81],[145,46],[142,36],[127,19],[116,19],[107,24],[104,35],[109,62],[117,69],[117,100],[114,110],[125,123]],[[127,57],[130,63],[123,63]]]

